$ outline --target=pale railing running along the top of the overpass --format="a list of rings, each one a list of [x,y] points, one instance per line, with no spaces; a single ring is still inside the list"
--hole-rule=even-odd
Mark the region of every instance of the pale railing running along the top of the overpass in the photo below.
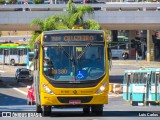
[[[82,4],[76,4],[80,6]],[[160,4],[154,3],[114,3],[109,2],[106,4],[87,4],[93,8],[100,8],[97,10],[101,11],[158,11],[160,9]],[[96,10],[96,9],[95,9]],[[30,4],[30,5],[0,5],[0,12],[4,11],[66,11],[66,4]]]

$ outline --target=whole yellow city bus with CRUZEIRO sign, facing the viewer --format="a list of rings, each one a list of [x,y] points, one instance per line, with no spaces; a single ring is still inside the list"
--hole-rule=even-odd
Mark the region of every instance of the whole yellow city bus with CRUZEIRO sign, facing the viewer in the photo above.
[[[43,32],[34,48],[36,111],[80,107],[86,114],[103,114],[108,104],[109,65],[102,30]]]

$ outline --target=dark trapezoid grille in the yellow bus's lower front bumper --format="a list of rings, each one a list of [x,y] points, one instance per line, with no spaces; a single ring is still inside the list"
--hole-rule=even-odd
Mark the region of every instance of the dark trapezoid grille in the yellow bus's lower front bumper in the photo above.
[[[57,97],[61,103],[69,103],[70,100],[80,100],[81,103],[87,103],[92,100],[92,96],[88,97]]]

